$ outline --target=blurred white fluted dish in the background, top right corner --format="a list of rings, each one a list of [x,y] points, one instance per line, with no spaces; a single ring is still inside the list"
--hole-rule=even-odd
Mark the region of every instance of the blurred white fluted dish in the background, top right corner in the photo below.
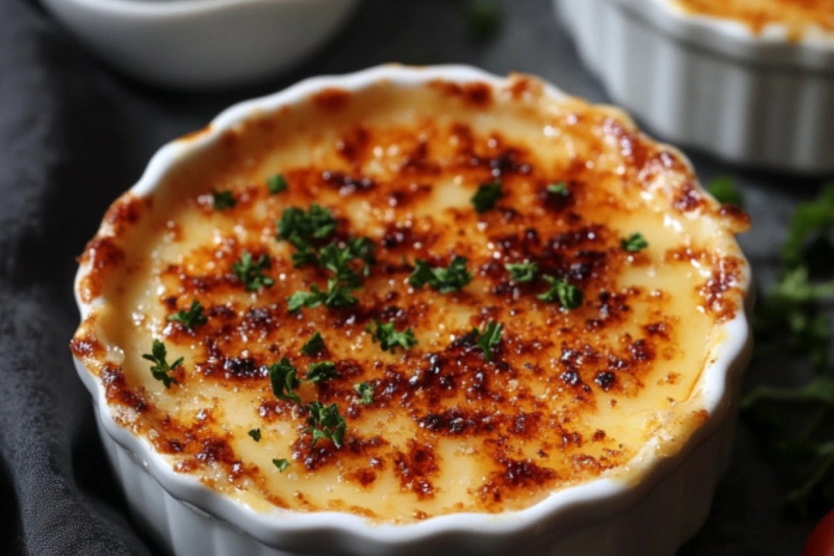
[[[662,137],[731,163],[834,172],[834,36],[693,16],[671,0],[555,0],[585,64]]]

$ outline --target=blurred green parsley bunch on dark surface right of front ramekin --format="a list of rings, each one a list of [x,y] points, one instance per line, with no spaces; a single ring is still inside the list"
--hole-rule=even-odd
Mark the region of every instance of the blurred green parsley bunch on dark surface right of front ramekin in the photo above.
[[[834,369],[826,314],[832,301],[834,183],[796,208],[777,282],[760,298],[753,318],[755,358],[790,354],[809,364],[814,376],[798,387],[760,386],[741,400],[766,453],[795,485],[786,503],[801,513],[834,504]]]

